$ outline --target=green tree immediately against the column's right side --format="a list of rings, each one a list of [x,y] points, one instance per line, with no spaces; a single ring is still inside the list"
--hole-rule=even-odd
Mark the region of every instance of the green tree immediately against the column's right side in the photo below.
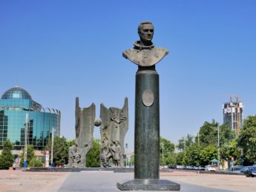
[[[175,145],[168,139],[160,136],[160,164],[167,165],[171,161],[171,156],[174,153]]]

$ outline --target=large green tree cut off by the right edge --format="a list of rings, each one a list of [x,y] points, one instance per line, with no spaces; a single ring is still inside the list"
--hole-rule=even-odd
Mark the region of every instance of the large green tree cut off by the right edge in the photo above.
[[[243,149],[246,164],[256,163],[256,116],[249,116],[243,122],[237,137],[237,145]]]

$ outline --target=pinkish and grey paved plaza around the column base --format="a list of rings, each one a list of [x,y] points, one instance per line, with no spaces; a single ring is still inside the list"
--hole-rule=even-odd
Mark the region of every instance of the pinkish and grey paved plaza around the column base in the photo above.
[[[134,173],[113,171],[0,171],[0,191],[119,191],[116,182],[123,182],[133,177]],[[240,175],[174,171],[160,173],[160,178],[179,183],[180,191],[256,192],[256,179]]]

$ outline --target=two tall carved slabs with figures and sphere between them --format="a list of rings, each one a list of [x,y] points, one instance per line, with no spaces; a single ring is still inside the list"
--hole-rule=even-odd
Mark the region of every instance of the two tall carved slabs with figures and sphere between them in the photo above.
[[[86,155],[92,148],[94,126],[100,126],[100,160],[104,168],[123,167],[124,141],[128,130],[128,99],[122,109],[100,106],[100,118],[95,119],[95,105],[79,107],[76,97],[76,142],[69,149],[70,168],[85,168]]]

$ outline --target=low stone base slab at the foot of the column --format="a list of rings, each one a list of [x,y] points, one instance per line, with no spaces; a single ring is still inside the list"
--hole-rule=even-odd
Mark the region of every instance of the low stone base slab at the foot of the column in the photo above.
[[[122,191],[180,191],[180,184],[165,179],[133,179],[116,186]]]

